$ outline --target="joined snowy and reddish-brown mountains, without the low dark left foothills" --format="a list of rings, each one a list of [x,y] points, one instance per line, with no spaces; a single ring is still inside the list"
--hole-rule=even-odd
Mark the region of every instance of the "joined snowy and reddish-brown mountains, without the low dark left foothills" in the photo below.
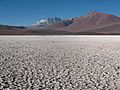
[[[27,29],[34,31],[57,30],[75,33],[117,33],[118,30],[120,30],[120,17],[94,11],[84,16],[68,19],[61,19],[58,17],[43,19]]]

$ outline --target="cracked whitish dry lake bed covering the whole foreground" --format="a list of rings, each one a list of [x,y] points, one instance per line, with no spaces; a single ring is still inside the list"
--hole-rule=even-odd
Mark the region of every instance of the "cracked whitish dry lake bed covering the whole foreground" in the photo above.
[[[0,90],[120,90],[120,36],[0,36]]]

